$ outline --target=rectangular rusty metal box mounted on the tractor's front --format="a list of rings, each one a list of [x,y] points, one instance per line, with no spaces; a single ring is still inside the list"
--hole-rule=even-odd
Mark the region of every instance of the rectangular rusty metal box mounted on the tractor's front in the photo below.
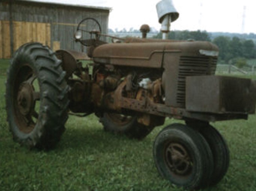
[[[255,113],[250,79],[227,76],[186,78],[186,109],[208,113]],[[251,89],[251,90],[250,90]]]

